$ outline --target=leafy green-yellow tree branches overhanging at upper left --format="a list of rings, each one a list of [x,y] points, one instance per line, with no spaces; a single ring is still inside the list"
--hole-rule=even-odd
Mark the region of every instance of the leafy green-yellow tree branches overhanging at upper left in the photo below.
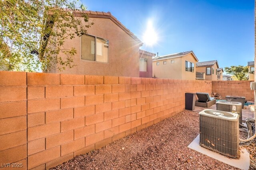
[[[66,39],[86,34],[85,7],[75,0],[1,0],[0,70],[72,68],[76,49]],[[66,57],[60,57],[60,53]]]

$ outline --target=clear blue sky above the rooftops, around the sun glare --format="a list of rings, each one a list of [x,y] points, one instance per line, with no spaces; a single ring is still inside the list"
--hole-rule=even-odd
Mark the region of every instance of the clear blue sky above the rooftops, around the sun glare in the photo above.
[[[254,60],[254,0],[83,0],[87,10],[111,12],[139,39],[148,21],[156,44],[141,49],[168,55],[193,50],[220,67]]]

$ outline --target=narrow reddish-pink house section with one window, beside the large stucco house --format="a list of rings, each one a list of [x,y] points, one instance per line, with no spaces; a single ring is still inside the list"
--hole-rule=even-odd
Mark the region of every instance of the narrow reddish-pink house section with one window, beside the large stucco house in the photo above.
[[[152,78],[152,57],[156,54],[140,50],[140,77]]]

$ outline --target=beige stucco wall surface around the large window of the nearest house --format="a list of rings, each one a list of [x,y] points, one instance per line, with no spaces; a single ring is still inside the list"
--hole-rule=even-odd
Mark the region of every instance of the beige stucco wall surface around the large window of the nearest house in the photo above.
[[[74,39],[67,39],[64,47],[76,48],[77,53],[73,59],[77,66],[66,68],[62,73],[139,77],[140,45],[138,41],[135,41],[108,18],[90,18],[90,21],[94,25],[88,28],[88,34],[109,41],[108,63],[82,60],[81,37],[75,37]],[[60,56],[65,57],[64,54]],[[58,72],[58,70],[52,72]]]

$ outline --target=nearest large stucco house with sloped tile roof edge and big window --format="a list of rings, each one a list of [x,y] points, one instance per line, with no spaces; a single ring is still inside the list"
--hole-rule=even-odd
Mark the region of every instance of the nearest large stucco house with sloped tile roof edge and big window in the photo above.
[[[139,77],[142,41],[110,12],[86,13],[94,23],[87,28],[88,35],[67,39],[64,43],[66,48],[76,48],[77,53],[72,58],[77,66],[67,67],[61,73]],[[60,54],[60,57],[66,55]]]

